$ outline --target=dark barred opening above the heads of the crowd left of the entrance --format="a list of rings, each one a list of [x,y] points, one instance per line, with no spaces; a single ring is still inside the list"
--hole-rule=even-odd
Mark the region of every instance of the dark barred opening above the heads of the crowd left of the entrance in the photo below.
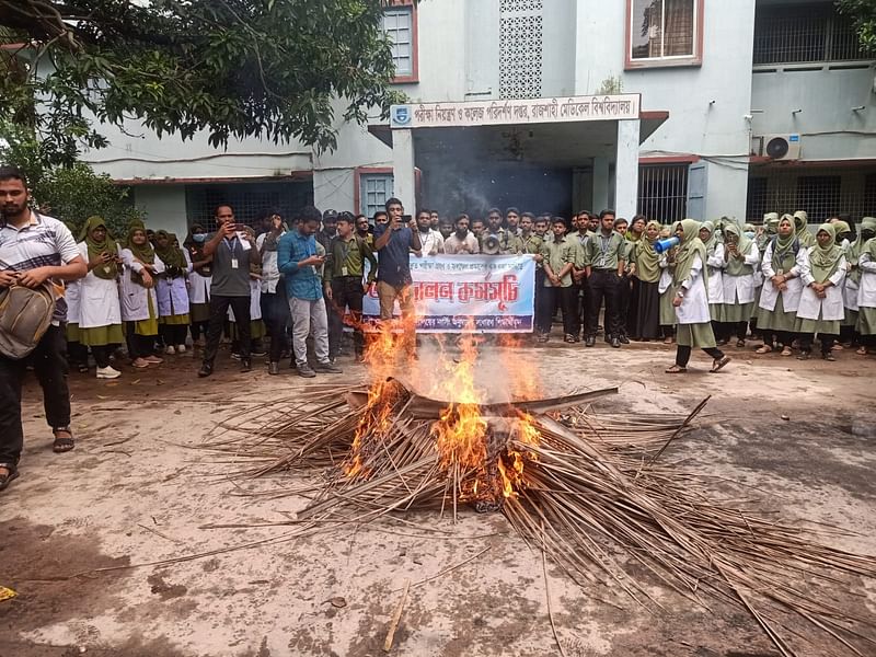
[[[215,212],[219,205],[230,205],[239,223],[255,227],[255,220],[268,208],[277,208],[289,221],[292,215],[313,203],[312,183],[228,183],[185,186],[188,226],[199,223],[208,232],[216,230]]]

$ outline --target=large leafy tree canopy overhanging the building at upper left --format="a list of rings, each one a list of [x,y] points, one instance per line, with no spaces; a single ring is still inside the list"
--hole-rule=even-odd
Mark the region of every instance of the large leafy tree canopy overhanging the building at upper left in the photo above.
[[[94,119],[207,130],[217,147],[258,136],[333,149],[333,99],[359,123],[402,99],[381,30],[392,2],[0,0],[0,119],[32,127],[67,164],[106,145]]]

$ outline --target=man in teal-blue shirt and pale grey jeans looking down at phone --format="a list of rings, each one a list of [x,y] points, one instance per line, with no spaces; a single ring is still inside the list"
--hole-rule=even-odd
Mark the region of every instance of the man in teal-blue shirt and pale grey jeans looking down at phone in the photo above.
[[[313,237],[320,229],[320,210],[308,206],[301,210],[298,226],[280,238],[277,246],[277,266],[286,277],[289,312],[292,315],[292,351],[298,376],[312,379],[316,372],[338,374],[341,368],[328,360],[328,318],[322,293],[321,267],[325,256],[320,255]],[[308,334],[313,331],[313,350],[316,368],[308,364]]]

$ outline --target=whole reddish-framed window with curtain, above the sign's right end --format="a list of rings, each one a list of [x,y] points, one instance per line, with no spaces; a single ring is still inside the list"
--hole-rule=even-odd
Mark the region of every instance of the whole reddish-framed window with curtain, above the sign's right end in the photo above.
[[[703,0],[627,0],[626,68],[699,66]]]

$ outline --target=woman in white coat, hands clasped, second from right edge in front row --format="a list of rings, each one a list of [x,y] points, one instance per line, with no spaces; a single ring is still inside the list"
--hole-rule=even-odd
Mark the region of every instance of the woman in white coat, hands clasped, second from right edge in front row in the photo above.
[[[797,239],[794,218],[784,215],[779,221],[779,233],[766,242],[761,273],[763,290],[760,295],[758,328],[763,334],[763,346],[758,354],[773,350],[773,335],[782,346],[782,356],[791,356],[794,324],[803,293],[803,272],[806,268],[806,249]]]

